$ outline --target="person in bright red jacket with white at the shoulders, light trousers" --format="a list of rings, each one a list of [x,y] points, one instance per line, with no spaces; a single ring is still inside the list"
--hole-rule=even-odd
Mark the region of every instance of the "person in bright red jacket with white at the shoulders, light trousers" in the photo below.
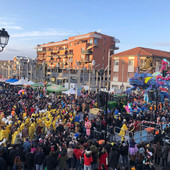
[[[93,161],[92,151],[90,149],[85,150],[85,153],[84,153],[84,170],[91,170],[92,161]]]

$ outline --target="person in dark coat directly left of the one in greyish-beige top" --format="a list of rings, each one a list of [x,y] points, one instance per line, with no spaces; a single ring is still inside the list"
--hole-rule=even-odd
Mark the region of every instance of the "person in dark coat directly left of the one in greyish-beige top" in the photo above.
[[[60,167],[60,170],[66,170],[67,169],[67,154],[65,151],[61,152],[61,155],[58,157],[58,165]]]

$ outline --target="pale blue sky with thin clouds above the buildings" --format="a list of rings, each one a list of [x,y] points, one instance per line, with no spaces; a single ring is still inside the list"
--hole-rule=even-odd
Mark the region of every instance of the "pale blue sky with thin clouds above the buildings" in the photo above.
[[[117,52],[137,46],[170,51],[170,0],[6,0],[0,29],[10,34],[0,59],[35,58],[37,44],[100,31],[120,40]]]

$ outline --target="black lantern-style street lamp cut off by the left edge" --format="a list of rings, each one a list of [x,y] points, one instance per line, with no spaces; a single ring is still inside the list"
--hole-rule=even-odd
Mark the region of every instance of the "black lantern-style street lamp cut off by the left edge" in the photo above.
[[[10,36],[8,32],[5,31],[5,28],[2,28],[2,30],[0,30],[0,52],[2,52],[5,46],[8,44],[9,37]]]

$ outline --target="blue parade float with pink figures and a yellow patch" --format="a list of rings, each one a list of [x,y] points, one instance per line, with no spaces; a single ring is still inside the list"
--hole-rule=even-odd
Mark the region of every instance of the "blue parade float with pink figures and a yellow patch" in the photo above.
[[[152,92],[154,94],[155,101],[164,101],[165,98],[170,98],[170,62],[167,59],[163,59],[161,62],[161,69],[159,72],[151,74],[153,67],[148,68],[145,72],[137,70],[134,77],[129,79],[129,83],[132,86],[126,90],[127,94],[130,94],[133,90],[139,88],[143,91],[145,101],[149,102],[148,94]]]

